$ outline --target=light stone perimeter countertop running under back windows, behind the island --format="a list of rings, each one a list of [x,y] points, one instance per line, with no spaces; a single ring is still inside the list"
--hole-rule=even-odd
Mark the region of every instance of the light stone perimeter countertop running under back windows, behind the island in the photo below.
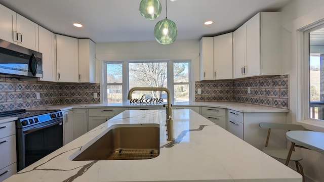
[[[176,103],[173,107],[188,107],[188,106],[203,106],[203,107],[218,107],[231,109],[238,112],[289,112],[288,109],[273,108],[267,106],[260,106],[254,104],[240,103],[240,102],[187,102]],[[68,109],[82,109],[82,108],[103,108],[103,107],[163,107],[163,104],[62,104],[53,106],[43,106],[39,108],[33,108],[32,110],[44,109],[44,110],[68,110]]]

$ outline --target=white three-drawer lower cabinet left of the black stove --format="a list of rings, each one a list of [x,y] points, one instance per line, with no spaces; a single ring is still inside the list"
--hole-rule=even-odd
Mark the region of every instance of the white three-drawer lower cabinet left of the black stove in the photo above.
[[[0,181],[17,172],[15,121],[0,124]]]

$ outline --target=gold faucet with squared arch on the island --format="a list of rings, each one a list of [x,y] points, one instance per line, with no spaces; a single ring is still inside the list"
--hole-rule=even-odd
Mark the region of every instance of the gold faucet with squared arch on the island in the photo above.
[[[167,102],[167,132],[168,132],[168,141],[174,141],[173,138],[173,119],[172,119],[172,108],[171,108],[171,99],[170,99],[170,90],[168,88],[163,87],[133,87],[128,92],[128,100],[132,99],[132,93],[135,90],[146,90],[146,91],[165,91],[168,96],[168,102]]]

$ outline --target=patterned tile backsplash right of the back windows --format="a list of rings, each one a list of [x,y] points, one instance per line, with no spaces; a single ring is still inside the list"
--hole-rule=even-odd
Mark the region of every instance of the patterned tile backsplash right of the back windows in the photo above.
[[[198,88],[201,88],[199,95]],[[195,101],[236,101],[289,109],[288,94],[289,75],[195,82]]]

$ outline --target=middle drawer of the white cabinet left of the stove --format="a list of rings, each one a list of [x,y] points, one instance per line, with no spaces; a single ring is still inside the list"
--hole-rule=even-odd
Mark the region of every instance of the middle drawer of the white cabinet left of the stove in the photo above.
[[[0,154],[0,169],[17,161],[15,134],[0,139]]]

